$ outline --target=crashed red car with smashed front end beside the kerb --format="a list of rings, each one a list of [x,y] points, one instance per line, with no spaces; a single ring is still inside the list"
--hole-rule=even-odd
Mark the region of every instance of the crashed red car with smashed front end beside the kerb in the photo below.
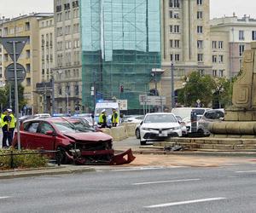
[[[13,142],[17,147],[17,137]],[[129,164],[131,149],[114,155],[110,135],[84,127],[73,118],[38,118],[20,126],[20,147],[32,150],[61,150],[61,164]]]

